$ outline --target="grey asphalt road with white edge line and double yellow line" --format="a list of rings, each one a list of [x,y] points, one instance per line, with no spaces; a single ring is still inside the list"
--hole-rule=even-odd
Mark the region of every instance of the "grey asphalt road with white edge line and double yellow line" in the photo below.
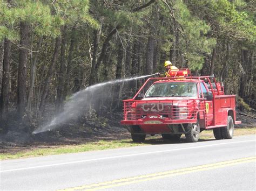
[[[0,161],[0,190],[255,190],[256,137]]]

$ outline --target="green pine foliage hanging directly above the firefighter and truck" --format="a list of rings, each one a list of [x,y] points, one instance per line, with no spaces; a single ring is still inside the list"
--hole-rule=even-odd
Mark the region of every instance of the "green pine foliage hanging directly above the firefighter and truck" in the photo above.
[[[161,4],[161,8],[164,10],[162,12],[170,12],[165,3]],[[203,54],[210,54],[216,44],[215,38],[207,37],[211,27],[204,20],[192,16],[183,1],[174,1],[173,12],[176,20],[170,19],[172,20],[171,25],[174,27],[178,25],[179,49],[184,54],[185,59],[188,60],[190,69],[199,70],[203,67]],[[168,51],[171,46],[170,41],[166,43],[167,45],[163,48],[164,51]]]

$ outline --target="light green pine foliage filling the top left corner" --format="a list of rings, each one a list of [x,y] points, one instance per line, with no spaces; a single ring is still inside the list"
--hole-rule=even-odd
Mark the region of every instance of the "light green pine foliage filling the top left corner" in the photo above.
[[[56,3],[41,3],[39,1],[15,1],[12,6],[0,4],[2,13],[0,23],[0,39],[17,39],[17,26],[20,22],[29,23],[31,30],[38,36],[56,37],[60,34],[60,26],[64,24],[79,25],[87,23],[97,28],[98,22],[89,11],[89,1],[57,1]]]

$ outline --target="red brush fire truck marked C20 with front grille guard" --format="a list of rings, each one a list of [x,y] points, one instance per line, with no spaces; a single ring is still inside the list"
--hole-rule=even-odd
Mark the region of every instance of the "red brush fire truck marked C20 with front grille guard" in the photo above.
[[[191,76],[188,69],[169,71],[171,77],[152,77],[138,93],[124,100],[124,119],[133,142],[144,142],[147,134],[197,142],[199,133],[213,129],[215,139],[231,139],[235,121],[235,95],[224,95],[224,87],[213,76]]]

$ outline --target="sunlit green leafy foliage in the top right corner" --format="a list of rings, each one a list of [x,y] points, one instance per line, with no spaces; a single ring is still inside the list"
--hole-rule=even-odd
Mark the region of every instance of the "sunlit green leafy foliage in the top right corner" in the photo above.
[[[248,40],[255,42],[256,27],[253,12],[243,10],[246,7],[244,1],[211,0],[190,1],[191,11],[196,15],[207,17],[214,27],[217,27],[218,36]]]

